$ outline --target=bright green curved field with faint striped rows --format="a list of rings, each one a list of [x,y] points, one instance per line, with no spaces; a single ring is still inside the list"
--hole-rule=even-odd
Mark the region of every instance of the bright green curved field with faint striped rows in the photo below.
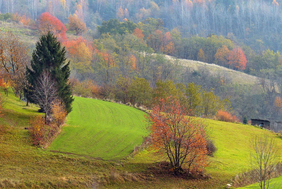
[[[103,100],[75,97],[73,110],[49,150],[115,160],[140,145],[144,112]]]

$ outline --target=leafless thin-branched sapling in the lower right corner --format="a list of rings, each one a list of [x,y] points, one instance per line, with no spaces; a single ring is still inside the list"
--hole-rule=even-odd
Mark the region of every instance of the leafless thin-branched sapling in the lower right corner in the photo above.
[[[275,168],[278,161],[276,141],[273,136],[264,134],[255,135],[250,140],[249,167],[252,180],[259,184],[261,189],[270,188],[270,181],[275,177]]]

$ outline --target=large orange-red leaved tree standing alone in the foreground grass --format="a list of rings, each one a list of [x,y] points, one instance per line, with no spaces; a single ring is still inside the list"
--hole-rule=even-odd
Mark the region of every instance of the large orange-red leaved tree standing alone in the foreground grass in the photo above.
[[[156,153],[167,156],[178,175],[182,166],[202,171],[207,166],[207,133],[201,119],[190,113],[176,99],[160,99],[147,118],[150,146]]]

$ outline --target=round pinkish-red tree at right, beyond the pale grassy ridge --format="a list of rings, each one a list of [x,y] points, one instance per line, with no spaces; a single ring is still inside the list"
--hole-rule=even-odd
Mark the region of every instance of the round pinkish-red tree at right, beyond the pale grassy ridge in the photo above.
[[[227,59],[228,59],[228,64],[230,66],[233,66],[234,69],[237,70],[246,69],[247,59],[241,48],[235,47],[232,51],[230,51]]]

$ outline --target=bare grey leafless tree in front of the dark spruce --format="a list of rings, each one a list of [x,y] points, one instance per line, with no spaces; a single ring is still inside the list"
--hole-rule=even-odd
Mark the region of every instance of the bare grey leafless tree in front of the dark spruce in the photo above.
[[[57,98],[55,81],[50,77],[50,73],[43,70],[34,86],[34,100],[45,113],[45,124],[51,112],[52,102]]]

